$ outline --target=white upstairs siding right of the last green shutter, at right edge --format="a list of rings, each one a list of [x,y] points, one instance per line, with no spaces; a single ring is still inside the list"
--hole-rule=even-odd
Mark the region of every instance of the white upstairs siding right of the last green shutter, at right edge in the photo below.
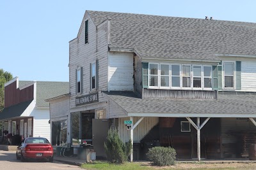
[[[241,62],[241,90],[256,92],[256,62]]]

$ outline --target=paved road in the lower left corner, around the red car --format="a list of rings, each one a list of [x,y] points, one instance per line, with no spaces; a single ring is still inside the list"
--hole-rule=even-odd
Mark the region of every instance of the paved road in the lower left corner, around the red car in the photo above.
[[[61,170],[81,170],[81,167],[63,164],[54,160],[52,163],[46,160],[28,160],[28,162],[20,162],[16,160],[16,152],[0,150],[0,169],[1,170],[13,170],[13,169],[31,169],[31,170],[50,170],[50,169],[61,169]]]

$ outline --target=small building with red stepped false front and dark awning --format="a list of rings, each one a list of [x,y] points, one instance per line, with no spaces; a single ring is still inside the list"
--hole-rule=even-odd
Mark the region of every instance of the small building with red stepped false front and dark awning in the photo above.
[[[51,141],[49,103],[45,99],[69,92],[68,82],[19,81],[4,84],[3,130],[27,138],[41,136]]]

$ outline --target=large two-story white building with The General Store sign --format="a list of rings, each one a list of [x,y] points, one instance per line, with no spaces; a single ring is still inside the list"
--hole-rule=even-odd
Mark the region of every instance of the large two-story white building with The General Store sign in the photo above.
[[[86,11],[69,42],[70,143],[104,156],[112,126],[134,159],[159,145],[179,159],[248,156],[255,38],[255,23]]]

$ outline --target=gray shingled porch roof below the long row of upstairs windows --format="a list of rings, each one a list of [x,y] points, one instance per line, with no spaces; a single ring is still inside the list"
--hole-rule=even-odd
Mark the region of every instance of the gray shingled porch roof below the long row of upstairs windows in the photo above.
[[[256,93],[219,92],[216,99],[141,99],[134,92],[104,92],[127,116],[134,117],[255,117]]]

